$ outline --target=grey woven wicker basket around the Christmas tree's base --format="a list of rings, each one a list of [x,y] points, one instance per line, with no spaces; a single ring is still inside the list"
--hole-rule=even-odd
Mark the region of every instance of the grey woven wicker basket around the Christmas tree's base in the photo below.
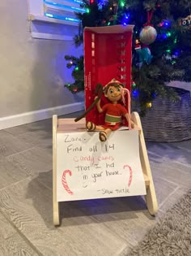
[[[185,89],[173,88],[180,102],[156,98],[151,109],[142,117],[146,141],[175,142],[191,139],[191,97]]]

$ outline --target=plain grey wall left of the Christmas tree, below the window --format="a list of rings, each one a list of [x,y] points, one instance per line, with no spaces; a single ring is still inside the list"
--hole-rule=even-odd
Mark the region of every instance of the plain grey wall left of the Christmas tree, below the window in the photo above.
[[[71,81],[64,56],[82,50],[73,41],[32,38],[27,0],[1,1],[0,16],[0,128],[6,117],[83,102],[83,93],[72,94],[63,86]]]

